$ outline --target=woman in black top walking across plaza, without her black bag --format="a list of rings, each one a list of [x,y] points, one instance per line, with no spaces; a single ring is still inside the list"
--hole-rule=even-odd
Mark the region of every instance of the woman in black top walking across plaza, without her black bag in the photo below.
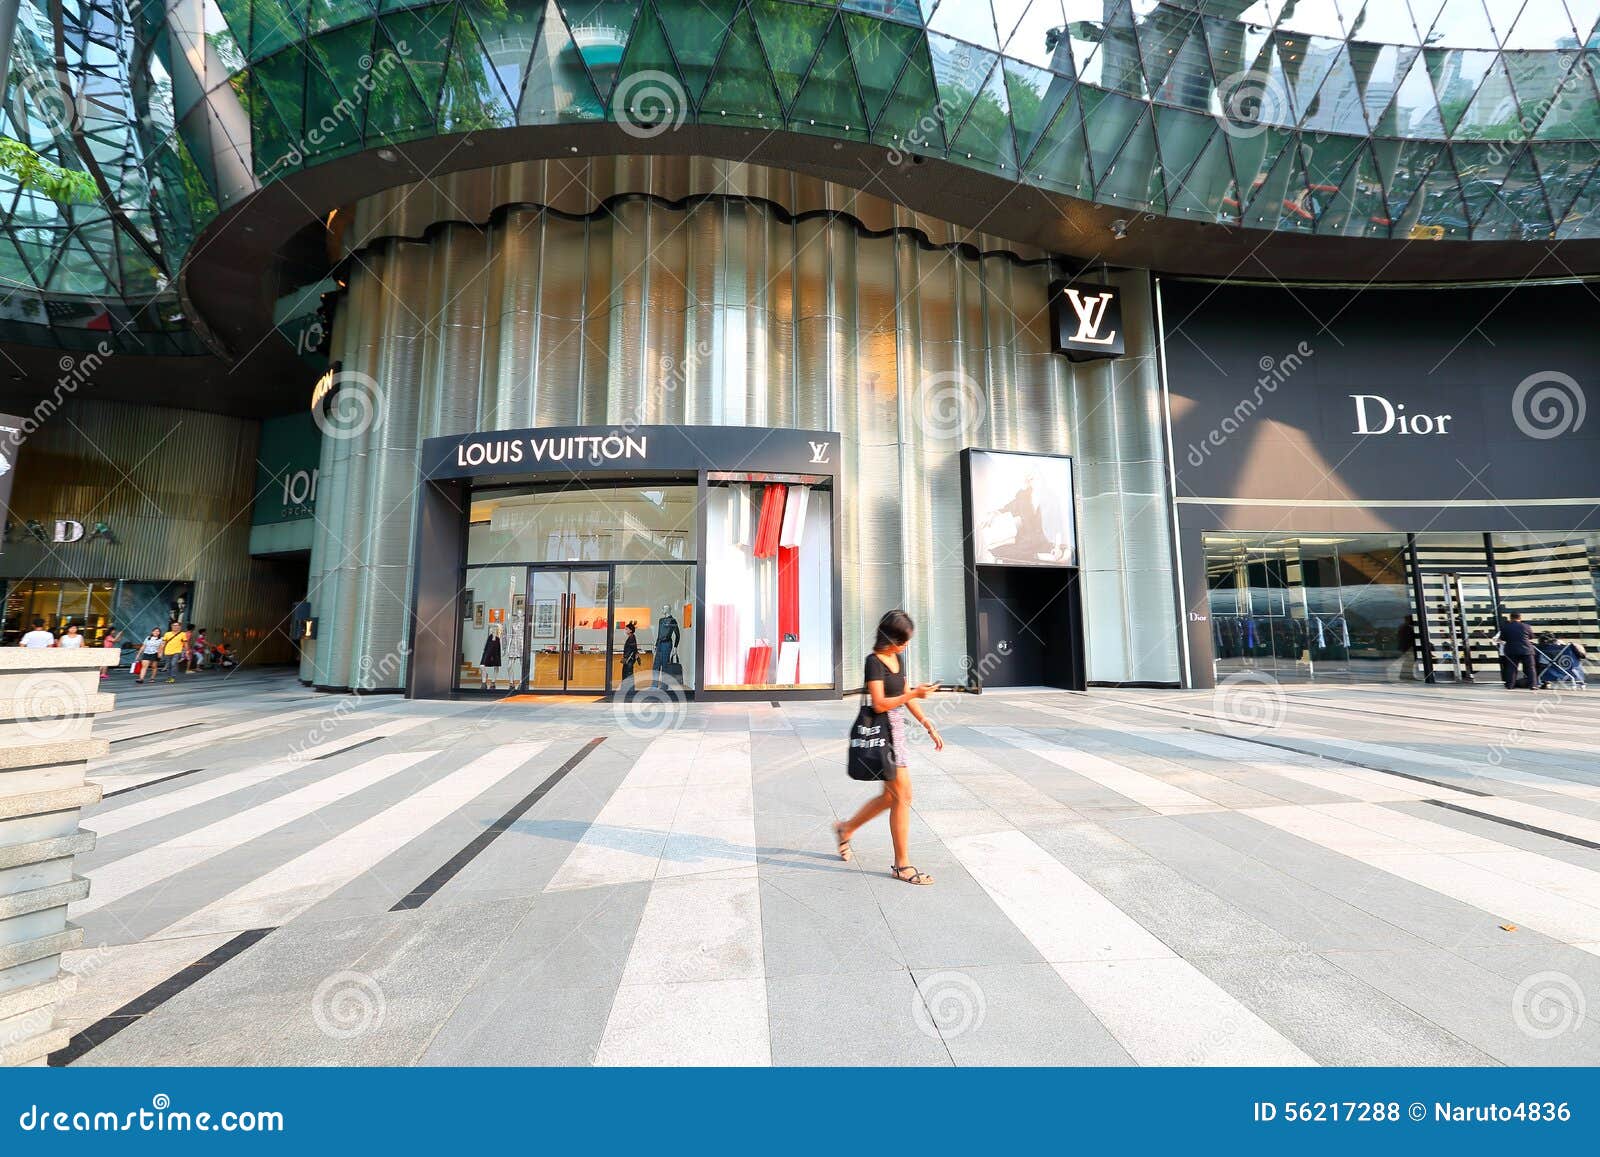
[[[917,624],[906,611],[890,611],[878,621],[878,635],[872,643],[872,655],[867,656],[866,688],[872,701],[872,711],[890,717],[890,754],[883,762],[883,792],[867,800],[861,811],[842,824],[834,824],[834,835],[838,837],[838,858],[850,859],[850,840],[869,819],[880,811],[890,813],[890,839],[894,843],[894,863],[890,875],[906,883],[933,883],[933,877],[918,872],[910,864],[906,843],[910,832],[910,771],[906,757],[910,754],[906,744],[906,712],[928,730],[934,751],[944,751],[944,738],[933,720],[922,714],[918,699],[926,699],[933,693],[933,683],[922,683],[906,690],[906,645],[910,643]]]

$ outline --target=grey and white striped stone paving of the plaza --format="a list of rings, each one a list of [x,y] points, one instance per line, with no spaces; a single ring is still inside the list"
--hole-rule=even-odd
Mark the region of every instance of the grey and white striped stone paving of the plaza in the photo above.
[[[56,1064],[1600,1063],[1600,691],[112,690]]]

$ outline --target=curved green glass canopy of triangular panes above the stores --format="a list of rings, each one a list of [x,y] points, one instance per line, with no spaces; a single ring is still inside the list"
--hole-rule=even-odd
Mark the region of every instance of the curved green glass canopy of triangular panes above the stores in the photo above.
[[[715,123],[872,142],[1254,229],[1600,230],[1594,0],[206,0],[197,11],[203,53],[184,67],[203,56],[203,69],[174,83],[173,115],[222,205],[360,149],[611,120],[637,136]],[[176,46],[158,35],[152,67],[171,69]]]

